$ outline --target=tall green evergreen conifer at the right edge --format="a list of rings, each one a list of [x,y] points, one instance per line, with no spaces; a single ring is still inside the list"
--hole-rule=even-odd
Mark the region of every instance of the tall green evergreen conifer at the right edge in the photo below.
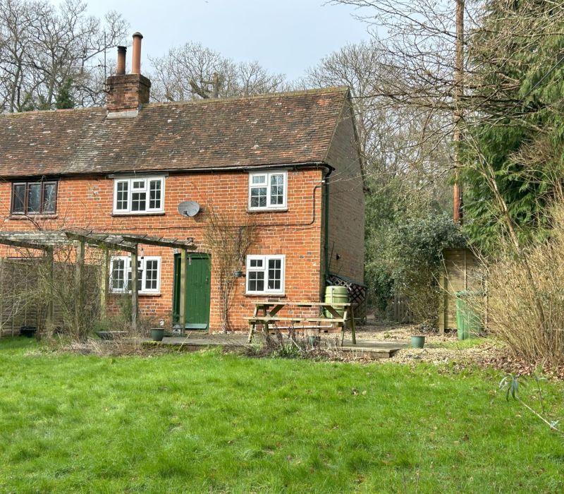
[[[491,0],[470,40],[478,123],[469,123],[465,139],[465,231],[489,253],[509,220],[522,245],[545,238],[546,206],[561,193],[563,10],[534,0]],[[484,169],[507,205],[505,221]]]

